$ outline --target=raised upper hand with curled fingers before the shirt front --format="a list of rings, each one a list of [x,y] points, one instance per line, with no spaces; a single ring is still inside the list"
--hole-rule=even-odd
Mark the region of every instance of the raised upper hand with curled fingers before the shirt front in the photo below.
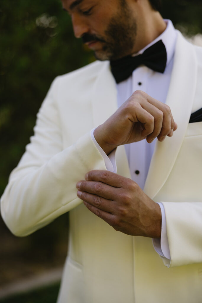
[[[148,143],[156,137],[162,142],[176,129],[169,106],[138,90],[94,130],[94,137],[108,155],[119,145],[145,138]]]

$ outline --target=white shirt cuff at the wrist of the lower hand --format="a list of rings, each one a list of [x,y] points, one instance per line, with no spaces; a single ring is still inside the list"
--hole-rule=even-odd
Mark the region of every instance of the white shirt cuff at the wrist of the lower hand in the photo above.
[[[164,265],[167,267],[171,263],[171,255],[168,244],[167,230],[166,230],[166,216],[162,203],[158,203],[161,208],[161,239],[152,239],[155,251],[161,256],[164,261]]]

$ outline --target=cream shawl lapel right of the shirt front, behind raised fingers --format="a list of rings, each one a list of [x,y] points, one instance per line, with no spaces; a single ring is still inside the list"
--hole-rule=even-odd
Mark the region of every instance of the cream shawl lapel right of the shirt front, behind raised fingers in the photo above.
[[[194,47],[178,32],[174,65],[166,104],[170,106],[178,128],[172,138],[156,143],[144,191],[151,198],[162,188],[183,142],[189,122],[197,82]]]

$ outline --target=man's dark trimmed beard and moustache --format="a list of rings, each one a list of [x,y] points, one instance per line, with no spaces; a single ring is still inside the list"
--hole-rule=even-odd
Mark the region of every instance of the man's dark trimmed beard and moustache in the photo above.
[[[94,51],[98,60],[117,60],[133,52],[137,24],[124,0],[120,1],[118,12],[110,19],[104,36],[84,34],[83,42],[100,41],[102,48]]]

